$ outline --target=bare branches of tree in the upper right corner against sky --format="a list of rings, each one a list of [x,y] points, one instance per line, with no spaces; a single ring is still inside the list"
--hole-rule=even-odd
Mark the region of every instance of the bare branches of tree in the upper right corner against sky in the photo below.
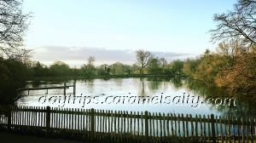
[[[211,30],[213,41],[236,39],[247,47],[256,44],[255,0],[239,0],[233,11],[215,14],[213,20],[218,23]]]

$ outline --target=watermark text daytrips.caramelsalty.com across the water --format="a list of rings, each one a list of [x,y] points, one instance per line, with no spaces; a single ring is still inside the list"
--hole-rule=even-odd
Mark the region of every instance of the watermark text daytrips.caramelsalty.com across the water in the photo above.
[[[170,96],[161,93],[154,96],[137,96],[131,93],[127,95],[42,95],[38,99],[39,104],[56,104],[57,106],[64,107],[67,104],[81,105],[84,107],[89,104],[115,104],[115,105],[175,105],[175,106],[192,106],[199,108],[205,105],[216,106],[236,106],[236,98],[226,97],[211,97],[202,98],[201,96],[194,96],[183,93],[182,95]]]

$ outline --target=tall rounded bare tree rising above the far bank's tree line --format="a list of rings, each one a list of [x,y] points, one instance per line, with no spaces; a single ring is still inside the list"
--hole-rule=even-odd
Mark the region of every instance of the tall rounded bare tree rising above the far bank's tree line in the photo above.
[[[152,57],[150,52],[144,51],[143,49],[139,49],[136,51],[137,54],[137,62],[140,66],[140,73],[143,74],[143,70],[146,66],[148,66],[148,63]]]

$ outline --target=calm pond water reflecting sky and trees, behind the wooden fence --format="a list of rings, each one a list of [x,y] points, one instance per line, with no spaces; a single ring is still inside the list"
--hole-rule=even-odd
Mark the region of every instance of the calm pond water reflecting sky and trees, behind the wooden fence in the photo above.
[[[26,87],[73,85],[74,80],[28,81]],[[63,89],[22,92],[17,106],[55,106],[100,110],[254,116],[255,102],[181,78],[78,79],[76,94]]]

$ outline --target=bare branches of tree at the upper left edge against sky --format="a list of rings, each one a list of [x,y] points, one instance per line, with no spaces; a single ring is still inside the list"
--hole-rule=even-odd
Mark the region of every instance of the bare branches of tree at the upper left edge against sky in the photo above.
[[[21,4],[19,0],[0,0],[0,54],[3,58],[20,60],[30,52],[20,48],[31,17],[22,13]]]

